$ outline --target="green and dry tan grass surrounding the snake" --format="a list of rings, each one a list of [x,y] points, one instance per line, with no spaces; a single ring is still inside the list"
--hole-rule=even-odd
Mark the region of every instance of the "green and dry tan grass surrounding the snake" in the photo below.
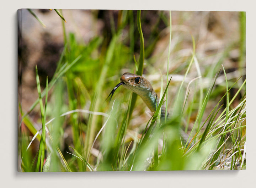
[[[137,11],[136,16],[133,11],[119,11],[117,21],[110,14],[112,36],[109,42],[101,35],[88,43],[78,41],[75,33],[66,32],[66,23],[62,21],[64,49],[53,79],[41,92],[37,73],[38,100],[26,113],[20,105],[19,171],[246,168],[246,80],[242,80],[239,68],[245,67],[245,54],[242,53],[245,48],[228,44],[214,61],[204,64],[202,61],[208,56],[202,57],[197,51],[199,44],[191,35],[187,40],[192,53],[181,56],[184,47],[176,38],[181,33],[172,30],[171,12],[159,12],[149,38],[143,34],[143,15],[148,12],[142,12]],[[63,15],[62,11],[60,13]],[[243,44],[245,16],[242,14],[240,19],[239,42]],[[170,67],[161,61],[153,63],[161,59],[163,51],[157,58],[150,56],[162,37],[157,32],[161,21],[170,27],[165,56],[168,65],[171,62]],[[190,34],[184,32],[183,40],[184,36]],[[135,50],[137,38],[139,52]],[[149,44],[144,44],[144,40],[149,40]],[[225,67],[225,60],[234,49],[240,50],[238,75]],[[163,75],[154,79],[159,69]],[[122,73],[134,70],[140,75],[144,73],[157,93],[159,88],[164,90],[162,97],[160,94],[160,105],[151,118],[145,115],[148,110],[143,101],[122,87],[116,91],[113,101],[104,102]],[[161,80],[165,80],[165,76],[168,80],[169,74],[171,82],[166,81],[163,87],[165,82]],[[177,74],[182,79],[175,78]],[[231,95],[231,91],[234,94]],[[160,122],[158,117],[162,103],[166,103],[170,112],[165,122]],[[31,112],[41,113],[41,121],[34,122]],[[180,140],[180,128],[184,128],[192,139],[186,145]]]

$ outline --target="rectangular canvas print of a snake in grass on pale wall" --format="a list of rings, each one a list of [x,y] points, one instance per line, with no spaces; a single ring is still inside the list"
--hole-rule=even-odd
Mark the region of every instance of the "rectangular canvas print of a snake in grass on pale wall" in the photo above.
[[[18,172],[246,169],[246,13],[19,9]]]

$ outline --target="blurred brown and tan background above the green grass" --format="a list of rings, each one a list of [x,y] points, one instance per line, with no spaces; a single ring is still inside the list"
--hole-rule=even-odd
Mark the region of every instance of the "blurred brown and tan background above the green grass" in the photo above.
[[[48,9],[34,11],[38,17],[42,18],[46,25],[45,28],[26,9],[22,9],[21,12],[18,31],[18,35],[21,37],[18,46],[21,54],[18,55],[22,58],[19,59],[20,69],[18,73],[22,73],[22,79],[19,82],[22,84],[22,106],[27,111],[33,101],[37,99],[34,67],[35,65],[38,66],[39,76],[44,79],[42,84],[45,83],[46,76],[50,80],[64,48],[64,37],[62,20],[53,11]],[[66,33],[74,33],[76,40],[85,45],[99,35],[102,35],[107,43],[112,37],[110,18],[112,17],[113,21],[117,21],[118,12],[115,10],[63,10],[63,15],[67,21],[65,24]],[[136,11],[134,11],[134,22],[135,14]],[[166,53],[169,44],[167,16],[167,11],[142,11],[145,48],[153,46],[146,57],[158,56],[158,60],[155,60],[154,63],[155,68],[162,68],[161,65],[165,65],[167,61]],[[166,18],[164,19],[164,17]],[[239,18],[239,12],[172,11],[172,38],[179,40],[180,48],[182,48],[179,55],[190,55],[191,35],[196,40],[197,56],[200,59],[207,58],[201,60],[200,63],[202,64],[210,63],[211,60],[214,61],[214,58],[217,59],[218,55],[226,48],[236,45],[236,49],[230,50],[228,57],[222,63],[227,69],[238,69]],[[137,29],[136,25],[134,27],[134,30]],[[129,37],[128,26],[124,29],[123,35],[123,40],[128,46],[129,41],[125,39],[125,37]],[[138,36],[135,43],[134,51],[139,53]],[[165,54],[162,55],[162,53]],[[130,56],[132,57],[133,54]],[[171,59],[175,58],[172,56],[174,55],[171,54]],[[124,64],[124,68],[128,67],[130,63],[133,63],[132,59]],[[170,63],[170,70],[176,68],[175,64],[177,63]],[[242,68],[245,68],[245,62],[242,64]],[[20,78],[21,74],[18,76]]]

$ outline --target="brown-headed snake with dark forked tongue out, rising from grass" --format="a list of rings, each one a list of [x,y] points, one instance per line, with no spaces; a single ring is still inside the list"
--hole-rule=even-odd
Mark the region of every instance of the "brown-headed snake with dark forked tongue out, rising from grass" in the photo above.
[[[150,82],[144,78],[143,76],[125,72],[120,78],[120,83],[118,83],[111,91],[111,93],[108,95],[107,99],[110,97],[110,100],[116,91],[116,89],[123,85],[124,88],[131,90],[132,92],[138,94],[140,98],[144,101],[146,106],[149,107],[150,111],[154,113],[157,109],[157,105],[159,104],[159,96],[156,94],[155,90],[153,89]],[[165,117],[165,111],[166,107],[163,104],[161,106],[161,119]],[[169,112],[167,112],[167,116],[169,115]],[[182,143],[186,143],[188,140],[188,135],[181,129],[181,140]]]

